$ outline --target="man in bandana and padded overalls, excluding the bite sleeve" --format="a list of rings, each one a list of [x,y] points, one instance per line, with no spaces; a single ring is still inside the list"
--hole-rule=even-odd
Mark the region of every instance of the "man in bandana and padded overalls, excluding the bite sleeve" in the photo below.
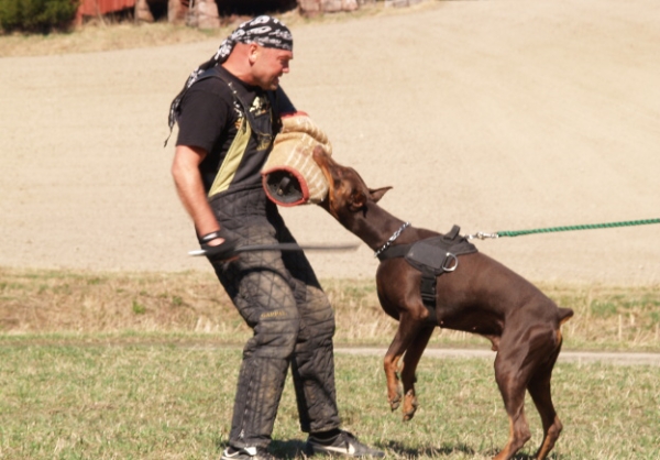
[[[277,406],[292,366],[307,453],[384,453],[340,429],[334,316],[302,252],[243,252],[237,245],[295,242],[266,198],[261,169],[284,112],[279,88],[293,59],[289,30],[271,17],[241,24],[189,77],[170,108],[179,124],[172,174],[220,283],[254,336],[243,350],[223,460],[270,459]]]

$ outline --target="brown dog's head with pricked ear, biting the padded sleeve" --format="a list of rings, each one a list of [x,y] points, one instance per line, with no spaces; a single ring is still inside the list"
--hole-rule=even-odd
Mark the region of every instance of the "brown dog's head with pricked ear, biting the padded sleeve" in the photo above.
[[[320,206],[342,223],[350,215],[364,210],[369,201],[377,202],[392,188],[369,188],[355,169],[340,165],[319,146],[312,156],[328,180],[328,196]]]

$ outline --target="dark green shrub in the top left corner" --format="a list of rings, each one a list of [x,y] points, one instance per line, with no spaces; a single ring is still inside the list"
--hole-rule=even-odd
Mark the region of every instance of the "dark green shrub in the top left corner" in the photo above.
[[[69,29],[80,0],[0,0],[3,32],[38,32]]]

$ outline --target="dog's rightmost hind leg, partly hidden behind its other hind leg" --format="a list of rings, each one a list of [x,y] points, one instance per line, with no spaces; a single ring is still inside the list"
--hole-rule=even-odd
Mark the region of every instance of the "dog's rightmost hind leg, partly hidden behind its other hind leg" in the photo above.
[[[543,460],[548,457],[548,453],[554,447],[554,442],[557,442],[562,429],[561,421],[559,420],[557,412],[554,410],[554,405],[552,404],[550,391],[552,369],[560,349],[561,342],[557,349],[551,352],[549,360],[531,376],[529,385],[527,385],[527,390],[541,416],[541,423],[543,425],[543,440],[535,454],[537,460]]]

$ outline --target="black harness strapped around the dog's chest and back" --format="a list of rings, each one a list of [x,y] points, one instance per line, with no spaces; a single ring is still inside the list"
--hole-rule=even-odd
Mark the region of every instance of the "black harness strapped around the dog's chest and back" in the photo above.
[[[421,300],[436,318],[436,278],[459,266],[459,255],[477,252],[474,244],[461,237],[461,228],[453,226],[447,234],[427,238],[411,244],[392,245],[377,254],[381,261],[405,258],[406,262],[421,272]]]

